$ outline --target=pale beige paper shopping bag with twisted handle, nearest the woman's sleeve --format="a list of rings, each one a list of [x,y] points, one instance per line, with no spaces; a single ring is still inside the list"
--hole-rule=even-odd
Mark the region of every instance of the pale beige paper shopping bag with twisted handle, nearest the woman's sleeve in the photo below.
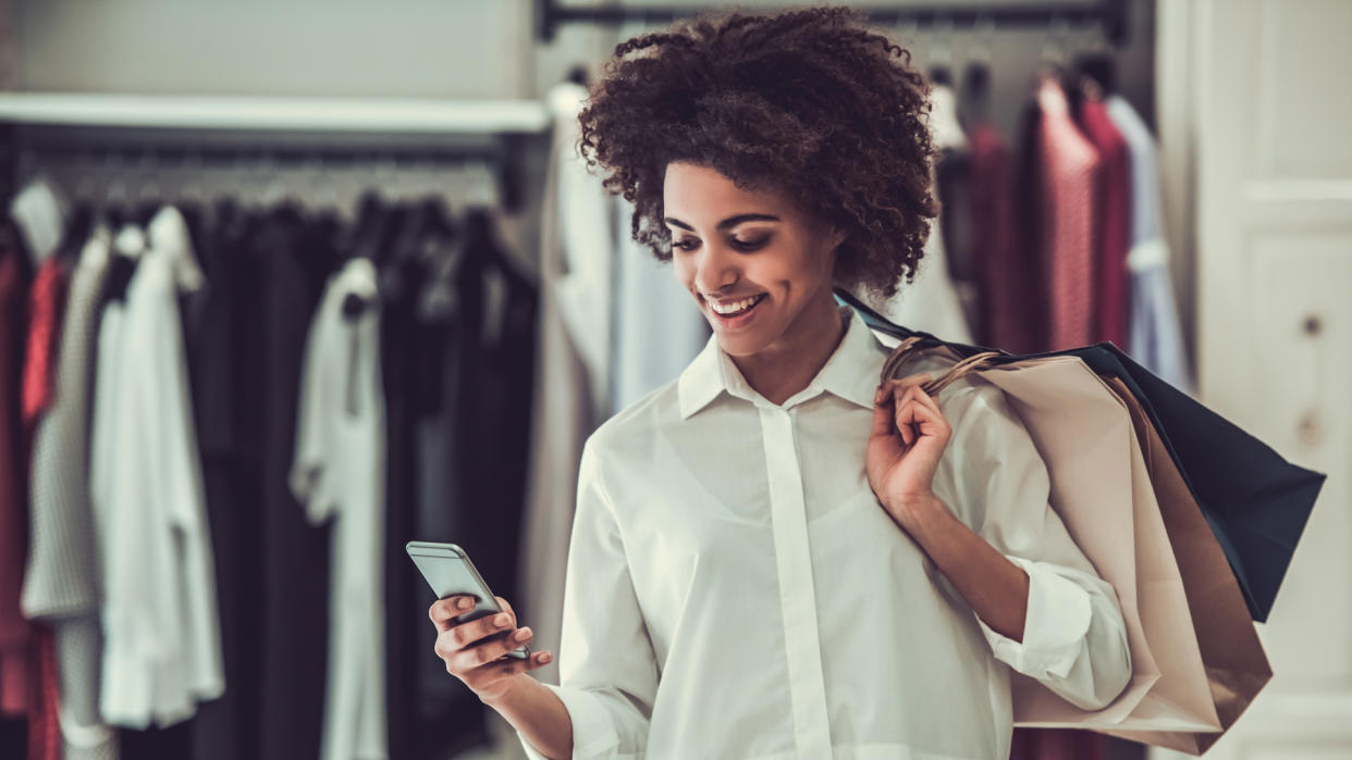
[[[933,359],[926,364],[937,363],[938,371],[918,369],[913,359],[919,356]],[[1052,508],[1117,590],[1133,666],[1126,690],[1094,711],[1013,674],[1015,725],[1220,732],[1221,717],[1191,634],[1184,579],[1128,405],[1078,356],[996,366],[986,364],[986,358],[959,360],[948,347],[918,352],[911,339],[894,351],[883,378],[932,371],[936,377],[925,386],[932,396],[959,381],[988,382],[1005,391],[1046,462]]]

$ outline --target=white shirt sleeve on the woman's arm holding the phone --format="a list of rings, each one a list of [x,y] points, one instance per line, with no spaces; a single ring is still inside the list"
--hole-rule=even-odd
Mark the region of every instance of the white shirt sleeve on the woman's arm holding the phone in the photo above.
[[[544,684],[568,707],[573,760],[642,757],[657,678],[623,539],[588,439],[564,575],[560,684]],[[527,757],[545,760],[525,737],[521,742]]]

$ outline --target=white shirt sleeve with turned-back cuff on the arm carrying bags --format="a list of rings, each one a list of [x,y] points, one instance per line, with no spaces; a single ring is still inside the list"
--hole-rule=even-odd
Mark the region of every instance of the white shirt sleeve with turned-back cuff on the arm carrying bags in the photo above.
[[[1132,678],[1117,593],[1052,509],[1046,463],[1005,391],[977,382],[953,401],[950,440],[960,441],[956,455],[964,459],[955,478],[960,509],[1029,576],[1019,641],[973,617],[998,660],[1076,707],[1106,707]]]

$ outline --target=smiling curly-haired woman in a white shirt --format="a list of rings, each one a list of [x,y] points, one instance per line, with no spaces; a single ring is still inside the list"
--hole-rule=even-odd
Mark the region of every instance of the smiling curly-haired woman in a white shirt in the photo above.
[[[1011,671],[1084,709],[1130,676],[1002,391],[932,398],[929,360],[879,386],[887,348],[834,301],[894,293],[936,215],[927,85],[860,16],[638,36],[580,115],[714,335],[584,447],[561,686],[526,672],[548,652],[500,659],[530,641],[510,612],[431,609],[531,757],[1007,757]]]

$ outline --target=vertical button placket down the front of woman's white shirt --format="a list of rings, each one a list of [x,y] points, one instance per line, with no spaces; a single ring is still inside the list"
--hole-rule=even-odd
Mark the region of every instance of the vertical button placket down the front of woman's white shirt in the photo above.
[[[794,418],[790,410],[757,405],[765,464],[769,478],[775,563],[784,614],[784,649],[788,659],[794,733],[799,757],[830,757],[830,718],[822,676],[822,649],[817,625],[817,590],[813,585],[807,541],[807,510],[798,464]]]

